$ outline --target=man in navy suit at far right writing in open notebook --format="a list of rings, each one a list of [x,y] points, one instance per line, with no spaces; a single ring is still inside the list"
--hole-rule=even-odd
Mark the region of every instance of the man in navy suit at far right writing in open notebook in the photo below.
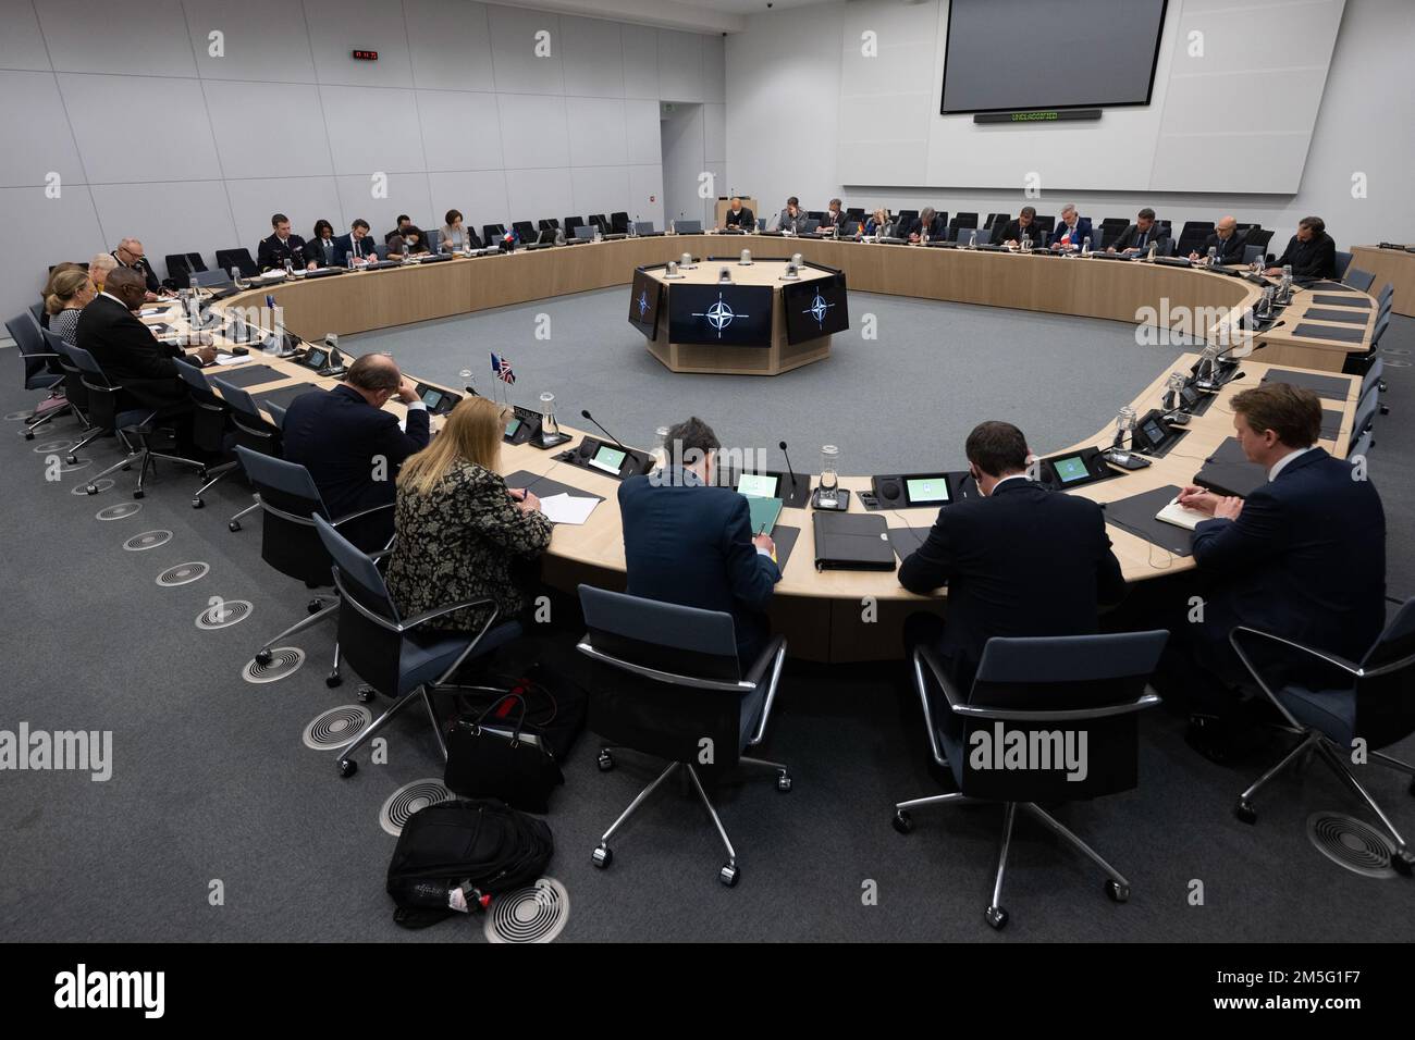
[[[1248,678],[1228,642],[1237,625],[1360,661],[1385,624],[1381,497],[1364,467],[1316,447],[1322,402],[1312,391],[1261,383],[1231,403],[1238,443],[1268,483],[1247,501],[1197,487],[1180,494],[1213,519],[1194,528],[1203,620],[1174,625],[1172,645],[1227,685]],[[1221,696],[1210,706],[1230,715]]]

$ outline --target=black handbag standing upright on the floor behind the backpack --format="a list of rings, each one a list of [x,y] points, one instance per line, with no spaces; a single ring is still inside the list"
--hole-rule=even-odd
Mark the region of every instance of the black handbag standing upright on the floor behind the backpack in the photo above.
[[[497,709],[514,702],[509,717]],[[526,730],[526,702],[507,693],[474,719],[458,719],[447,732],[449,791],[466,798],[497,798],[524,812],[549,812],[550,791],[565,782],[560,764],[539,734]]]

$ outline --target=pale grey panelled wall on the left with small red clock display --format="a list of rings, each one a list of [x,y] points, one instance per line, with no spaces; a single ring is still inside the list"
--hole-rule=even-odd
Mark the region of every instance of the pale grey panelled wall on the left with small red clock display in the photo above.
[[[706,102],[705,158],[726,149],[722,35],[470,0],[0,0],[0,226],[33,266],[0,282],[6,317],[47,265],[126,235],[158,273],[167,253],[212,263],[253,253],[276,211],[306,236],[402,212],[434,228],[453,207],[478,226],[662,224],[661,99]]]

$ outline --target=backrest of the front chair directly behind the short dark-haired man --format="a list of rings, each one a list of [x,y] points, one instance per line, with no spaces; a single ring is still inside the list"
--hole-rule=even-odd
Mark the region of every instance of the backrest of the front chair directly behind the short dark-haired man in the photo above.
[[[1091,798],[1136,784],[1136,716],[1169,632],[992,638],[968,692],[964,795]]]

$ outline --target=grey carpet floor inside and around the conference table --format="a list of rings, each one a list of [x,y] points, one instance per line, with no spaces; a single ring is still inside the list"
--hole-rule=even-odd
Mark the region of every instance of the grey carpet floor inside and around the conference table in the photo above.
[[[1043,447],[1070,443],[1094,433],[1166,355],[1136,348],[1131,331],[1112,323],[856,297],[856,316],[877,313],[879,341],[838,337],[829,364],[784,379],[685,379],[648,358],[620,313],[624,296],[507,308],[351,338],[350,347],[392,349],[410,371],[441,379],[457,378],[463,357],[502,349],[516,364],[524,399],[550,388],[566,415],[584,406],[614,416],[627,440],[642,441],[686,412],[715,422],[724,441],[818,444],[828,427],[855,473],[961,458],[962,437],[983,416],[1020,419]],[[552,340],[532,345],[528,323],[539,311],[552,314]],[[1397,318],[1387,347],[1415,347],[1415,321]],[[927,378],[930,389],[901,372]],[[1409,594],[1415,480],[1405,460],[1415,450],[1415,389],[1405,368],[1388,375],[1391,415],[1380,420],[1371,473],[1390,516],[1391,593]],[[478,386],[487,386],[480,374]],[[0,412],[31,398],[7,386]],[[879,420],[862,422],[862,399]],[[822,415],[833,419],[824,423]],[[52,451],[37,449],[74,430],[59,420],[52,434],[25,443],[17,423],[0,424],[8,546],[0,557],[0,729],[23,720],[31,729],[112,730],[113,775],[93,782],[78,773],[0,773],[0,934],[483,941],[480,921],[423,932],[391,921],[383,876],[395,839],[378,812],[400,785],[440,775],[426,720],[406,713],[388,734],[388,764],[364,757],[357,775],[340,780],[335,756],[300,740],[314,716],[354,700],[355,676],[340,689],[323,682],[333,627],[290,640],[308,659],[289,679],[242,681],[260,642],[303,617],[308,599],[299,582],[262,563],[259,524],[226,529],[248,492],[225,481],[194,511],[194,477],[164,468],[140,512],[98,521],[100,508],[132,502],[133,475],[116,474],[117,485],[96,498],[72,494],[116,458],[113,443],[99,441],[85,453],[92,463],[47,481]],[[811,456],[808,449],[794,460],[814,468]],[[147,531],[173,538],[146,552],[122,548]],[[192,560],[209,563],[209,574],[177,587],[156,583],[164,569]],[[214,596],[249,600],[253,614],[200,631],[195,618]],[[542,652],[573,659],[567,638]],[[907,838],[890,828],[894,801],[941,790],[900,678],[891,668],[788,665],[764,754],[792,765],[795,790],[782,795],[770,782],[743,782],[720,792],[741,863],[733,890],[715,880],[722,853],[706,816],[676,790],[661,792],[617,839],[610,870],[590,865],[599,833],[657,767],[623,754],[616,771],[600,774],[586,734],[546,818],[556,839],[548,873],[570,903],[562,941],[1415,938],[1409,880],[1360,877],[1309,843],[1309,814],[1361,815],[1333,777],[1313,765],[1275,782],[1258,804],[1258,825],[1247,826],[1230,807],[1266,760],[1214,765],[1187,749],[1180,720],[1163,712],[1143,720],[1135,791],[1058,809],[1129,876],[1131,901],[1109,903],[1088,863],[1022,824],[1005,893],[1013,920],[1006,932],[992,932],[982,910],[1000,811],[923,811]],[[1415,740],[1395,751],[1415,758]],[[1377,767],[1363,777],[1397,825],[1415,832],[1405,782]],[[216,880],[221,906],[208,897]],[[1196,880],[1201,906],[1189,900]],[[866,887],[877,891],[873,903],[862,899]]]

